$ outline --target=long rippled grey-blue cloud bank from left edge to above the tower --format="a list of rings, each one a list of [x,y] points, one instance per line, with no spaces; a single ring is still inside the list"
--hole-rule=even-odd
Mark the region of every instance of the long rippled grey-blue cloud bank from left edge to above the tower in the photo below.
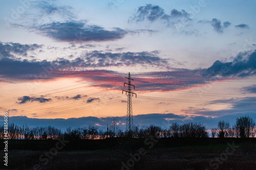
[[[89,67],[110,66],[153,66],[166,68],[168,67],[168,62],[158,57],[155,51],[140,53],[102,53],[100,51],[92,51],[71,60],[58,58],[53,61],[29,61],[3,58],[0,59],[0,75],[8,79],[48,80],[58,76],[54,75],[54,72],[59,70],[79,70]]]

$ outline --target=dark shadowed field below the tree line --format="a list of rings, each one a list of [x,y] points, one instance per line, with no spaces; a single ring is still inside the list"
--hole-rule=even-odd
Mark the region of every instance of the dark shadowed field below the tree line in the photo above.
[[[108,138],[59,150],[57,142],[9,140],[8,169],[256,169],[254,138]]]

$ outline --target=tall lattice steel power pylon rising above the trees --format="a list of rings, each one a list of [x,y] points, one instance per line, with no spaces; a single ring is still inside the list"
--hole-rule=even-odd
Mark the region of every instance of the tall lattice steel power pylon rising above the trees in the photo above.
[[[135,86],[131,84],[131,75],[130,75],[130,72],[129,72],[129,75],[128,77],[125,77],[126,79],[128,79],[128,83],[123,83],[123,86],[125,86],[125,84],[128,85],[128,89],[127,90],[123,90],[122,93],[125,91],[125,94],[127,95],[127,116],[126,116],[126,131],[128,131],[129,133],[132,131],[132,128],[133,128],[133,106],[132,106],[132,96],[133,94],[136,95],[136,98],[137,98],[137,94],[134,93],[132,91],[132,88],[131,86],[134,87],[135,89]]]

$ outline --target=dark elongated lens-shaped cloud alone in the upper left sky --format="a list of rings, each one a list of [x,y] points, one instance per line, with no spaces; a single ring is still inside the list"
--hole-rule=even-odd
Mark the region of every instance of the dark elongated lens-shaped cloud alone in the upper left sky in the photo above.
[[[86,21],[85,21],[86,22]],[[88,25],[81,21],[52,22],[35,27],[39,34],[58,41],[86,42],[109,41],[123,38],[126,31],[120,28],[105,30],[96,25]]]

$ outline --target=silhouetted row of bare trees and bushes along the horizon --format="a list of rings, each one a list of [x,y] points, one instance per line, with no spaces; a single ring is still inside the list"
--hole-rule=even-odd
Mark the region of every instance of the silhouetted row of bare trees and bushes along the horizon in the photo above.
[[[108,137],[132,136],[135,138],[145,138],[148,135],[156,137],[255,137],[256,126],[254,120],[249,116],[241,116],[236,119],[234,125],[228,122],[219,121],[217,128],[207,130],[202,123],[172,123],[168,129],[160,126],[135,125],[132,132],[122,131],[116,118],[110,123],[107,131],[98,130],[98,127],[90,124],[87,127],[68,127],[65,131],[52,126],[28,127],[27,125],[17,126],[14,123],[8,125],[9,139],[57,139],[66,137],[70,139],[105,139]],[[211,135],[210,135],[211,134]],[[6,138],[4,125],[0,127],[0,139]]]

